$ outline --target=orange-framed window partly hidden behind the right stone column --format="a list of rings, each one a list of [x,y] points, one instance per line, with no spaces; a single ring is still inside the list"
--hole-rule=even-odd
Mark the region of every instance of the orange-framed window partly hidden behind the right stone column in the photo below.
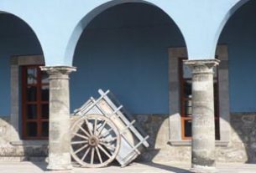
[[[180,114],[182,140],[191,140],[192,124],[192,74],[191,69],[183,64],[185,58],[179,59],[180,71]],[[220,139],[219,133],[219,109],[218,109],[218,79],[217,68],[214,69],[214,107],[215,107],[215,134],[216,140]]]

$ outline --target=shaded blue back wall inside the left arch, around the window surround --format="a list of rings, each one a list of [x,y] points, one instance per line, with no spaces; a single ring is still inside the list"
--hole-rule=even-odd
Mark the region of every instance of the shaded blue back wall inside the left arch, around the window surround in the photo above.
[[[41,53],[26,23],[9,14],[0,15],[0,116],[10,114],[10,57]]]

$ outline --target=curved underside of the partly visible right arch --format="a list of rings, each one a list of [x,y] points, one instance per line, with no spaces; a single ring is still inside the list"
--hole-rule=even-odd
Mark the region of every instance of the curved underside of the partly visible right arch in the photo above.
[[[225,14],[225,16],[222,18],[220,25],[217,28],[217,32],[214,36],[214,44],[215,45],[215,49],[217,48],[217,42],[221,36],[222,30],[223,28],[226,26],[227,21],[229,20],[229,18],[232,17],[232,15],[237,12],[238,8],[241,8],[245,3],[248,3],[248,1],[250,0],[239,0],[238,3],[235,3]]]

